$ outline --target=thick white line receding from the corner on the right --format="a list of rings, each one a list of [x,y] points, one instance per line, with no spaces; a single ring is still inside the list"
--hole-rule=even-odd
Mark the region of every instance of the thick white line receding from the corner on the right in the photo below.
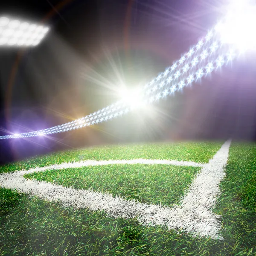
[[[209,164],[202,168],[189,186],[189,192],[181,204],[183,229],[188,232],[222,239],[218,235],[221,228],[220,216],[212,213],[212,208],[220,195],[219,183],[226,175],[224,169],[228,160],[230,144],[231,140],[228,140],[222,145],[215,156],[209,160]]]

